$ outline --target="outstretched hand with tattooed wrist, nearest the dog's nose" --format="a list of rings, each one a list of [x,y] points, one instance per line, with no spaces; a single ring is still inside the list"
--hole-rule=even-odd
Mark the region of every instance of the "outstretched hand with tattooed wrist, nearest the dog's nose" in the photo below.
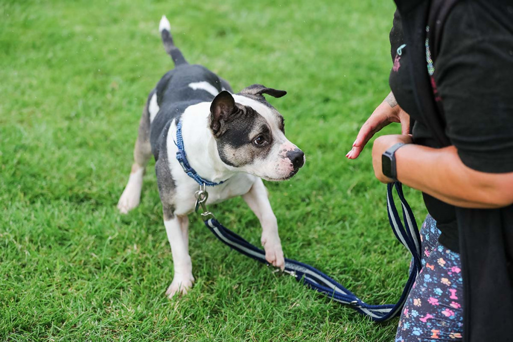
[[[347,152],[348,159],[356,159],[369,139],[390,123],[401,123],[401,133],[409,134],[410,116],[399,107],[393,93],[390,92],[374,112],[363,124],[356,140],[354,140],[351,151]]]

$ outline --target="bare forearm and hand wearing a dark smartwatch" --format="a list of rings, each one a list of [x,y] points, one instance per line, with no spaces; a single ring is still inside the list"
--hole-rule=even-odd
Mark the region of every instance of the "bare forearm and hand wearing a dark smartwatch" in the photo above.
[[[410,143],[404,135],[384,135],[374,140],[374,174],[383,183],[381,156],[396,143]],[[443,202],[466,208],[501,208],[513,204],[513,172],[480,172],[465,166],[456,147],[433,149],[407,144],[396,151],[398,180]]]

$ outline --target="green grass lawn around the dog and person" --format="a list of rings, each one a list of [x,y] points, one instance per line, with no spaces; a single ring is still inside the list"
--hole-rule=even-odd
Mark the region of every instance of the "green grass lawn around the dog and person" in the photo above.
[[[222,5],[220,5],[222,3]],[[0,3],[0,340],[390,341],[375,324],[223,246],[191,216],[196,284],[168,300],[172,258],[153,163],[142,203],[115,205],[147,93],[172,67],[157,27],[187,59],[227,78],[285,89],[272,99],[307,155],[266,183],[286,256],[317,266],[368,303],[407,278],[370,149],[344,158],[388,93],[393,3],[228,0]],[[390,127],[386,132],[398,132]],[[407,192],[420,221],[420,195]],[[240,198],[213,208],[253,243]]]

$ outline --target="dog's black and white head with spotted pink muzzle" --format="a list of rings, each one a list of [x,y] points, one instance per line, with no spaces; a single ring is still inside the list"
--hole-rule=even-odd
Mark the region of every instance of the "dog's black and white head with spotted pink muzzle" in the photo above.
[[[305,155],[285,137],[283,116],[264,97],[286,93],[252,85],[238,94],[215,96],[210,129],[223,163],[266,180],[285,180],[298,172]]]

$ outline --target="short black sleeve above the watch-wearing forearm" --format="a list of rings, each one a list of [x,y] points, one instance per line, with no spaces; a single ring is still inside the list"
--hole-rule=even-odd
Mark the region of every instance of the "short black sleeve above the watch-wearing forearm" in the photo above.
[[[462,162],[482,172],[513,172],[512,18],[506,6],[461,2],[435,64],[447,136]]]

